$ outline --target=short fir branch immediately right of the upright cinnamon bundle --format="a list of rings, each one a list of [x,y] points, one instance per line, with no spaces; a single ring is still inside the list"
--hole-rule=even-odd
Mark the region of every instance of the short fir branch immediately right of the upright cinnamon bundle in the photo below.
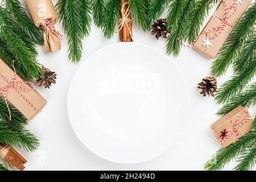
[[[141,27],[143,31],[150,30],[150,22],[148,20],[148,1],[144,0],[128,0],[131,8],[132,17],[135,20],[135,24]]]

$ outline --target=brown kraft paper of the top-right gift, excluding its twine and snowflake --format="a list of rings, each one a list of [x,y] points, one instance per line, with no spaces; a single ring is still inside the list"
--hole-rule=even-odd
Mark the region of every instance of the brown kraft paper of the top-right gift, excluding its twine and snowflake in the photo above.
[[[225,0],[227,6],[233,5],[234,2],[233,0]],[[238,19],[241,18],[242,14],[245,12],[247,7],[250,5],[251,0],[245,0],[242,2],[242,4],[238,3],[236,4],[236,12],[232,15],[231,18],[228,19],[228,23],[232,26],[235,26],[237,23]],[[232,14],[234,10],[232,9],[229,13]],[[215,11],[214,15],[216,15],[219,18],[223,18],[225,13],[225,5],[224,2],[221,2],[220,5],[218,5],[217,10]],[[208,31],[213,27],[221,26],[221,20],[218,19],[216,16],[212,16],[212,18],[209,20],[208,24],[204,27],[204,30],[202,32]],[[197,50],[200,52],[205,51],[205,55],[211,59],[214,59],[218,52],[220,51],[221,47],[223,44],[226,42],[226,39],[228,39],[229,34],[232,32],[233,28],[230,27],[229,25],[226,25],[224,30],[221,32],[220,35],[217,36],[217,38],[213,39],[212,46],[210,46],[207,51],[205,51],[205,46],[203,46],[203,40],[207,38],[205,34],[201,35],[195,45]],[[213,36],[214,31],[209,32],[209,36]]]

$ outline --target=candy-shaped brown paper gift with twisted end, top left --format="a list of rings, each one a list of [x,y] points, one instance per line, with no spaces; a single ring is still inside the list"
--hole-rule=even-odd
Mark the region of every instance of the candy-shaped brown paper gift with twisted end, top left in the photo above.
[[[57,13],[52,0],[26,0],[28,10],[36,26],[46,27],[46,20],[53,25],[57,21]],[[60,39],[49,28],[44,32],[44,49],[55,52],[61,49]]]

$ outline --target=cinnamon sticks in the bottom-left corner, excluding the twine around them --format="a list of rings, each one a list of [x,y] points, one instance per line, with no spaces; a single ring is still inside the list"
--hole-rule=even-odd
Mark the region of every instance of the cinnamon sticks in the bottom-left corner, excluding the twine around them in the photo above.
[[[5,147],[4,144],[0,143],[0,151]],[[14,151],[14,153],[13,153]],[[18,156],[16,156],[18,155]],[[22,160],[20,160],[20,159]],[[11,166],[15,167],[16,169],[19,169],[20,171],[24,170],[23,162],[26,160],[24,159],[20,154],[18,154],[17,151],[15,151],[13,148],[10,148],[10,150],[5,155],[5,160],[10,163]],[[23,161],[23,162],[22,162]],[[27,161],[27,160],[26,160]]]

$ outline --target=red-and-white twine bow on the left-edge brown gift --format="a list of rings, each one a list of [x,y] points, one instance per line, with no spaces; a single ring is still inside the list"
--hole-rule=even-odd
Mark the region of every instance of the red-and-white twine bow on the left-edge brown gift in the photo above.
[[[14,68],[14,60],[13,60],[13,68]],[[5,80],[7,82],[7,85],[4,88],[0,89],[0,96],[3,95],[5,98],[5,104],[7,106],[7,109],[9,111],[9,120],[11,121],[11,110],[9,107],[9,104],[7,102],[7,93],[9,92],[10,88],[13,88],[20,97],[23,98],[24,101],[26,101],[35,111],[39,112],[38,109],[36,109],[36,107],[34,105],[32,105],[32,103],[30,101],[27,100],[26,97],[23,96],[22,93],[19,92],[18,89],[23,90],[25,92],[32,92],[33,90],[35,90],[35,85],[32,82],[28,82],[28,81],[16,81],[20,76],[17,75],[16,69],[14,68],[14,76],[13,79],[11,79],[11,81],[8,81],[5,76],[3,76],[0,73],[0,77],[3,78],[3,80]],[[20,84],[29,84],[32,86],[32,89],[26,89],[23,86],[20,86]]]

